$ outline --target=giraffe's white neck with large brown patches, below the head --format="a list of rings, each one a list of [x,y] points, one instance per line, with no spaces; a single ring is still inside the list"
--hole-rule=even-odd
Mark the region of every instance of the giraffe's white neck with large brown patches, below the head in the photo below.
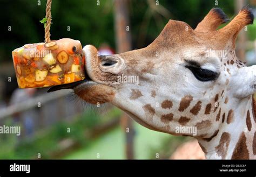
[[[210,138],[198,138],[207,159],[256,159],[256,119],[252,96],[242,100],[232,112],[232,120],[222,122]],[[228,118],[229,117],[229,118]]]

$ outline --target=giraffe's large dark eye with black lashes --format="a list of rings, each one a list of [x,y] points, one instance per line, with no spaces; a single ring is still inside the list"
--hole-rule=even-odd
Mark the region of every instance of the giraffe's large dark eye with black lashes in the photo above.
[[[190,69],[193,75],[199,80],[199,81],[212,81],[215,80],[218,76],[217,73],[208,70],[208,69],[202,69],[200,67],[194,67],[194,66],[186,66],[186,68]]]

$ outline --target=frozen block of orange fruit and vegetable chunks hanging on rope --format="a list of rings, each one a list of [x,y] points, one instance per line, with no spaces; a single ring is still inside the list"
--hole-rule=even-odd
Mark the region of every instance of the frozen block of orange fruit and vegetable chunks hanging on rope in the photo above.
[[[59,39],[12,51],[19,88],[49,87],[85,79],[80,41]]]

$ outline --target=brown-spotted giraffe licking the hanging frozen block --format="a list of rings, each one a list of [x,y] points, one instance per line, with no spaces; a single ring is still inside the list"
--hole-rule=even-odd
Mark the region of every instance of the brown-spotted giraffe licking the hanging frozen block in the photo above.
[[[169,20],[145,48],[99,56],[86,45],[87,80],[64,88],[92,104],[116,105],[151,130],[193,136],[207,159],[255,159],[256,66],[247,67],[234,51],[253,18],[245,7],[217,30],[228,19],[214,8],[194,30]]]

